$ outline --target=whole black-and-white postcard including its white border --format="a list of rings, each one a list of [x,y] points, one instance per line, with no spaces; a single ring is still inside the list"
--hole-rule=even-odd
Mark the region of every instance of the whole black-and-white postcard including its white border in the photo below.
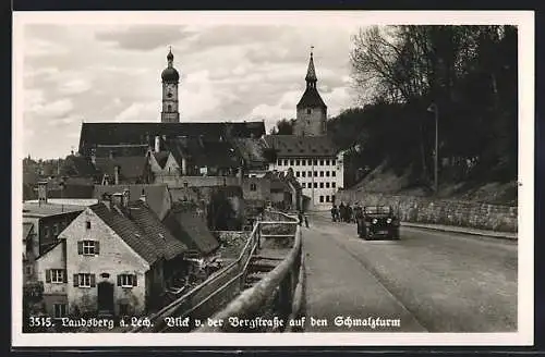
[[[13,346],[533,344],[532,12],[13,19]]]

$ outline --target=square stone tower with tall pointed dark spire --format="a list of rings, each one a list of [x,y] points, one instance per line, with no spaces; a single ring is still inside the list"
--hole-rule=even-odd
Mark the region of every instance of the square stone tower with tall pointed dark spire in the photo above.
[[[298,114],[293,134],[299,136],[322,136],[327,134],[327,106],[316,89],[316,70],[311,51],[306,70],[306,89],[298,103]]]

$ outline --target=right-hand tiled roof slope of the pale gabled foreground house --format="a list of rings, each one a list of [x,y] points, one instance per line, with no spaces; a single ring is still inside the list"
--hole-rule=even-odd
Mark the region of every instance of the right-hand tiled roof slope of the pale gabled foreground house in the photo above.
[[[161,258],[172,259],[186,250],[165,227],[158,226],[158,218],[145,205],[131,202],[129,206],[126,211],[116,206],[110,209],[105,202],[89,208],[149,264]]]

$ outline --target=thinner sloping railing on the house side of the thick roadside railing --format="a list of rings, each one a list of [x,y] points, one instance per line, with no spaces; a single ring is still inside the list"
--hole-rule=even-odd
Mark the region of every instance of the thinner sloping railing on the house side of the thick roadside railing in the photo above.
[[[196,320],[208,318],[218,309],[227,306],[229,301],[244,290],[251,258],[261,246],[263,226],[281,223],[284,222],[256,222],[249,241],[237,260],[217,271],[206,281],[149,317],[150,327],[138,327],[128,332],[189,332],[195,328],[195,325],[190,324],[184,328],[178,327],[174,330],[167,324],[166,318],[177,317],[184,319],[190,317],[193,323]],[[290,221],[286,223],[294,224],[296,222]]]

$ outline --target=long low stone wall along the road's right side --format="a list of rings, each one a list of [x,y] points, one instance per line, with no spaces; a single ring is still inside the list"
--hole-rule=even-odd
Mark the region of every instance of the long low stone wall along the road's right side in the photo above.
[[[432,199],[364,192],[339,192],[337,202],[390,205],[399,209],[401,221],[517,232],[518,208],[470,201]]]

